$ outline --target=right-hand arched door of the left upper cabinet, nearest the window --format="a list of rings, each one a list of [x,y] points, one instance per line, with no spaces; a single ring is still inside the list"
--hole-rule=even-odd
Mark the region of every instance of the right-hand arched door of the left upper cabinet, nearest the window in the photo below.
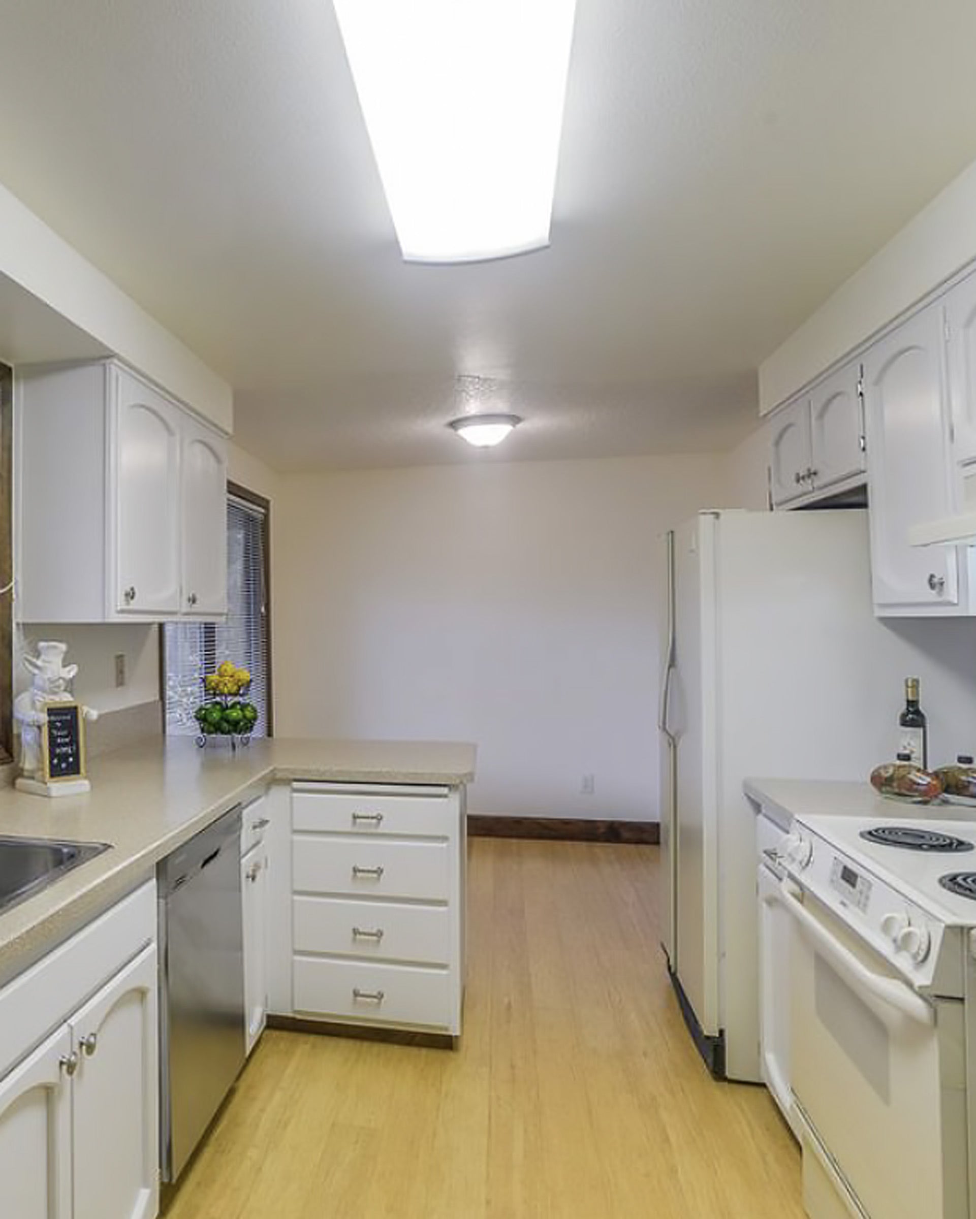
[[[181,485],[183,612],[227,613],[227,445],[194,419],[184,421]]]

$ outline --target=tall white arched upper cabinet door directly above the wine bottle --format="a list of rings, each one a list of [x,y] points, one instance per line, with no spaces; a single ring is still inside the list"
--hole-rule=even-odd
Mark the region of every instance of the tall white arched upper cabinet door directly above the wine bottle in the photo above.
[[[913,525],[952,512],[943,334],[936,302],[863,357],[871,577],[881,616],[971,612],[958,550],[909,545]]]

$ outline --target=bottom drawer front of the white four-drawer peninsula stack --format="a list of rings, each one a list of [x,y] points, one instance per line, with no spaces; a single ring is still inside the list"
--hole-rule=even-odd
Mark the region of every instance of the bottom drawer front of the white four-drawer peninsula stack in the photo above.
[[[451,1026],[451,974],[418,965],[295,957],[295,1014]]]

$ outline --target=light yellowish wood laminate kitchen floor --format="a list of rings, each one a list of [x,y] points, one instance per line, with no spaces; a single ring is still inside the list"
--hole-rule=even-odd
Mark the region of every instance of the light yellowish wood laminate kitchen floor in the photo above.
[[[461,1048],[266,1034],[167,1219],[802,1219],[772,1101],[682,1024],[658,867],[472,840]]]

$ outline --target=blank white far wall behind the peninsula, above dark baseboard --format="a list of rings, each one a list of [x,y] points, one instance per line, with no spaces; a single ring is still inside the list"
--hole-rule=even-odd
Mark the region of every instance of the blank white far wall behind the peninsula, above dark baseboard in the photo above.
[[[283,477],[276,731],[471,740],[473,812],[656,819],[658,536],[725,499],[716,457]]]

